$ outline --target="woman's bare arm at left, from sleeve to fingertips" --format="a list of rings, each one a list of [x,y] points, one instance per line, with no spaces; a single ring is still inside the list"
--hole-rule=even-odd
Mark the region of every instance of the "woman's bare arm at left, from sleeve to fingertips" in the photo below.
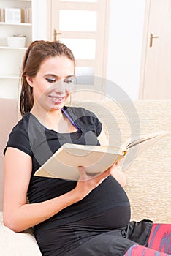
[[[28,154],[16,148],[7,148],[5,154],[4,180],[4,225],[20,232],[33,227],[57,214],[62,209],[82,200],[110,175],[112,168],[100,176],[90,178],[80,168],[80,181],[64,195],[42,203],[26,202],[28,184],[31,178],[32,161]]]

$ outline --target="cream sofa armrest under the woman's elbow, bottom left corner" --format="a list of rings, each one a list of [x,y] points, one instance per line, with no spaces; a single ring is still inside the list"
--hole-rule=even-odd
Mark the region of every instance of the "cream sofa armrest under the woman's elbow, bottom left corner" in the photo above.
[[[15,233],[3,225],[0,212],[0,252],[1,256],[42,256],[37,241],[30,231]]]

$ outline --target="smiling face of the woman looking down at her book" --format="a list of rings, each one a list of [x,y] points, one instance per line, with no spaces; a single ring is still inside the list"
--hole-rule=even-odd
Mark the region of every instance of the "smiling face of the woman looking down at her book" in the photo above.
[[[74,62],[65,56],[50,57],[42,62],[34,78],[26,76],[33,88],[34,106],[45,110],[64,107],[72,89],[75,75]]]

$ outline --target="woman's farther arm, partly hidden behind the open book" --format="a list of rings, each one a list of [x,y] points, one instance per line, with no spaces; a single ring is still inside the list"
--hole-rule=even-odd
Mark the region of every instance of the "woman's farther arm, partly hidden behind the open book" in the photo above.
[[[100,145],[102,146],[108,146],[109,141],[107,139],[107,136],[104,132],[104,129],[102,129],[102,132],[100,133],[99,137],[97,138],[99,140]],[[119,184],[121,184],[122,187],[126,186],[126,176],[123,171],[118,167],[119,163],[116,163],[112,167],[111,175],[118,181]]]

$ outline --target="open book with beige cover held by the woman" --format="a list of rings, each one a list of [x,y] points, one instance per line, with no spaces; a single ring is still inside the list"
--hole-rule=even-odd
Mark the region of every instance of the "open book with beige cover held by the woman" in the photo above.
[[[39,167],[34,176],[77,181],[79,178],[78,166],[85,167],[86,173],[94,176],[129,155],[129,151],[133,150],[137,157],[166,134],[166,132],[157,132],[142,135],[140,138],[127,140],[121,147],[66,143],[42,167]]]

